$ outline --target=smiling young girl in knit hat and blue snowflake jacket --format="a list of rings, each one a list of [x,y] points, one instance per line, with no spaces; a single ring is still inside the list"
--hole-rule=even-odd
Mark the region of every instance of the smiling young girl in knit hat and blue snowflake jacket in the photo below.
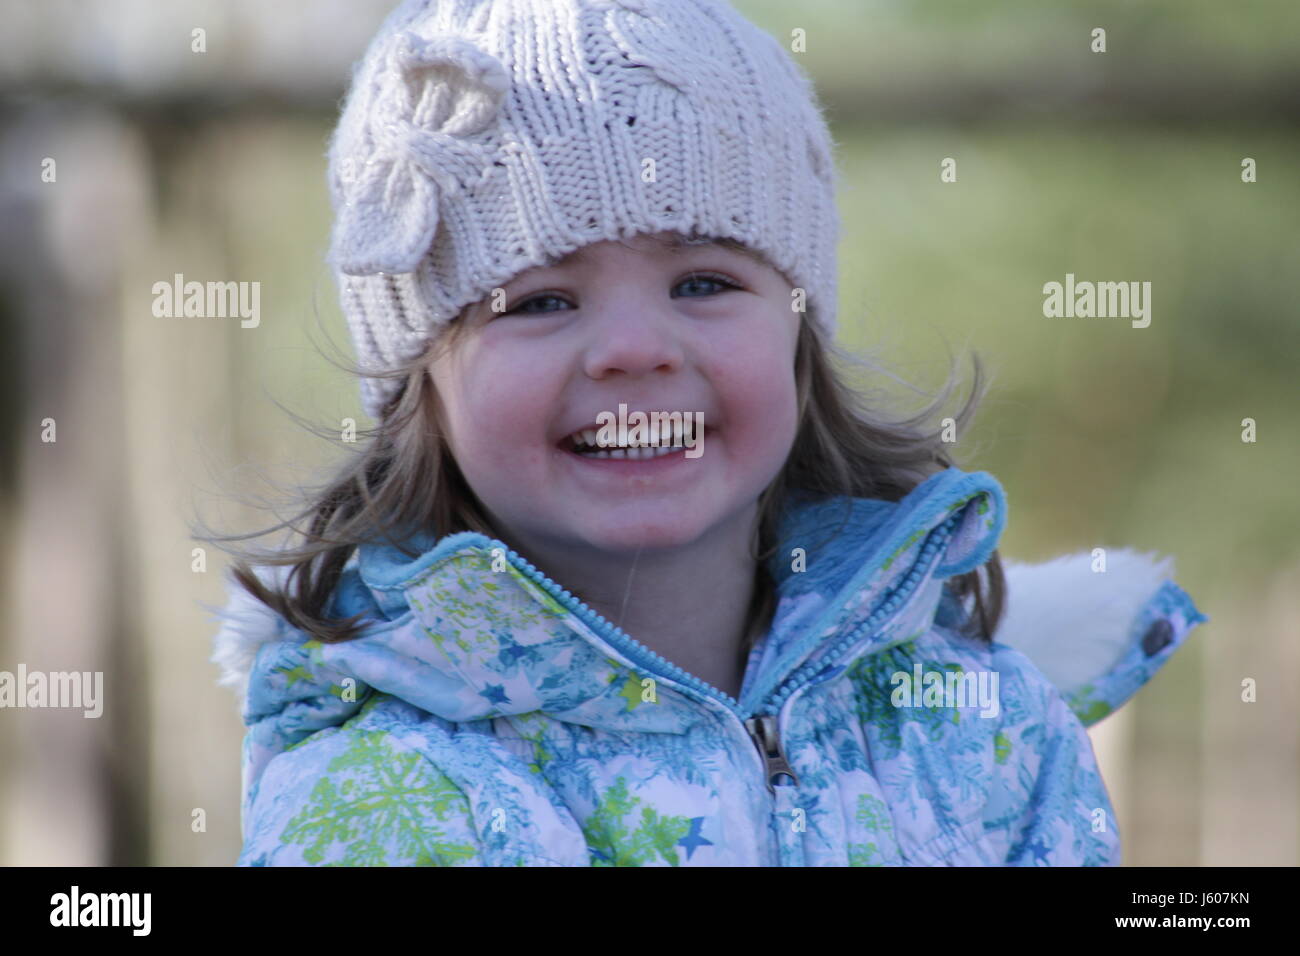
[[[240,864],[1119,862],[1084,724],[1204,618],[1123,551],[1002,614],[998,484],[829,363],[832,142],[776,40],[410,0],[330,186],[377,424],[235,566]]]

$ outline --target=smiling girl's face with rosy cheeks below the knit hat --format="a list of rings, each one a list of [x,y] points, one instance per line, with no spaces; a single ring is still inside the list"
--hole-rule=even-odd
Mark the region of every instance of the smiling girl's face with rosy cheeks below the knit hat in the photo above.
[[[516,548],[672,549],[737,522],[749,540],[794,442],[801,313],[771,267],[673,238],[598,242],[520,273],[498,311],[493,295],[471,306],[463,337],[432,362],[456,463]],[[571,450],[620,403],[702,415],[702,453]]]

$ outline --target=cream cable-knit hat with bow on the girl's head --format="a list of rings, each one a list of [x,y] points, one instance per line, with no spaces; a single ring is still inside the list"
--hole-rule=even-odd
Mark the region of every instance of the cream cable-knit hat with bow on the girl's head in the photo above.
[[[407,0],[329,150],[358,359],[582,246],[676,230],[764,254],[835,330],[833,143],[785,49],[725,0]],[[361,378],[378,419],[400,384]]]

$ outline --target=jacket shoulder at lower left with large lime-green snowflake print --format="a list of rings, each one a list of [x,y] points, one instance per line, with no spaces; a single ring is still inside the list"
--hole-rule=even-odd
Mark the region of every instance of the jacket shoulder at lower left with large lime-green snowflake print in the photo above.
[[[273,757],[239,864],[586,866],[559,796],[491,734],[374,693]]]

